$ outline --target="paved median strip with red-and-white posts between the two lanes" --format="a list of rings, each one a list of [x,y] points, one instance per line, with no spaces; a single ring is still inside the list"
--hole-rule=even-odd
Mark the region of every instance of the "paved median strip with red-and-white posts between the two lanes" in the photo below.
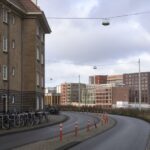
[[[92,124],[88,132],[87,127],[85,127],[84,129],[78,131],[77,136],[75,136],[75,133],[72,132],[64,135],[62,141],[60,141],[60,138],[57,137],[54,139],[28,144],[19,148],[15,148],[13,150],[66,150],[93,136],[96,136],[98,134],[103,133],[106,130],[109,130],[110,128],[115,126],[115,124],[116,121],[109,118],[108,124],[102,125],[102,123],[100,122],[99,124],[97,124],[97,128],[95,128],[95,125]]]

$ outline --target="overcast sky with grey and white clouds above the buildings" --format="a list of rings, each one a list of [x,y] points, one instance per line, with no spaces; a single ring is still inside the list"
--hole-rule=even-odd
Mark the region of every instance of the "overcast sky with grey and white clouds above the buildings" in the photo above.
[[[149,11],[150,0],[38,0],[47,17],[110,17]],[[150,71],[150,13],[103,20],[48,19],[46,86],[89,75]],[[97,66],[94,70],[93,66]],[[50,80],[52,79],[52,80]]]

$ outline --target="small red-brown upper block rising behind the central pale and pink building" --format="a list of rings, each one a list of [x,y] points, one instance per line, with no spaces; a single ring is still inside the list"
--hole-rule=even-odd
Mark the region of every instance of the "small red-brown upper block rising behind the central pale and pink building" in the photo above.
[[[89,84],[106,84],[107,76],[106,75],[94,75],[89,77]]]

